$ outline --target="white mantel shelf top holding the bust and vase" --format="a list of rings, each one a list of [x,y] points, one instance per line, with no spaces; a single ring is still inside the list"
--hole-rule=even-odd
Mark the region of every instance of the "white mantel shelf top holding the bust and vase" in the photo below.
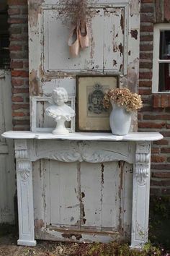
[[[103,132],[73,132],[68,135],[52,135],[51,132],[4,132],[2,137],[7,139],[37,139],[37,140],[91,140],[91,141],[155,141],[161,140],[159,132],[131,132],[128,135],[118,136]]]

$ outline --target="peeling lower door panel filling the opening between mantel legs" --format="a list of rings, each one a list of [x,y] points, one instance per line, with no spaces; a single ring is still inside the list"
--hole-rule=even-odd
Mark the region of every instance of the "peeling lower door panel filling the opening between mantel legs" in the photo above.
[[[101,242],[103,237],[105,242],[118,236],[129,239],[132,208],[121,195],[126,195],[132,204],[132,165],[41,160],[33,163],[33,176],[37,239],[79,242],[95,241],[95,236]],[[125,187],[127,182],[129,186]],[[40,195],[43,204],[39,202]]]

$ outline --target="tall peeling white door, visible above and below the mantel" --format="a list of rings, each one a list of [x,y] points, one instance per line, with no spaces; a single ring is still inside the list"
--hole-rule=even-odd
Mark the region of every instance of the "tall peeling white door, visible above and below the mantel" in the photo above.
[[[43,128],[44,120],[47,123],[43,101],[53,88],[64,87],[68,95],[76,97],[77,74],[116,74],[120,87],[138,90],[140,0],[97,0],[91,8],[90,47],[72,59],[67,45],[70,31],[57,19],[58,1],[28,0],[31,127],[40,124],[38,128]],[[137,129],[135,116],[132,129]],[[52,143],[49,141],[49,150]],[[105,163],[104,170],[106,185],[102,163],[66,164],[43,159],[34,163],[37,239],[72,239],[68,234],[59,236],[58,229],[75,233],[77,229],[96,229],[100,237],[106,232],[108,241],[109,232],[121,235],[124,224],[123,232],[130,234],[130,208],[125,205],[132,203],[133,166],[125,164],[121,174],[119,163],[112,162]],[[123,217],[121,205],[125,207]]]

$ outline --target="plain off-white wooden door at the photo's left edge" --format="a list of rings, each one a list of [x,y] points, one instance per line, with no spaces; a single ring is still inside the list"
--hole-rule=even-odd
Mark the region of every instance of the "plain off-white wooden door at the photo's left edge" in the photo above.
[[[0,69],[0,135],[12,129],[12,88],[9,71]],[[0,137],[0,223],[14,222],[14,145]]]

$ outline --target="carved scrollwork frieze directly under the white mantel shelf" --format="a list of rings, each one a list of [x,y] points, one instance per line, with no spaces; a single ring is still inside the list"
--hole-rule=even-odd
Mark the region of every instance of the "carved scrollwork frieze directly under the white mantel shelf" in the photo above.
[[[53,146],[50,143],[50,148],[43,142],[37,142],[36,155],[34,161],[38,159],[53,159],[62,162],[89,162],[101,163],[109,161],[126,161],[133,163],[133,152],[130,153],[126,142],[123,143],[123,150],[119,146],[112,148],[109,142],[96,142],[92,145],[91,142],[58,142]],[[43,150],[42,150],[43,148]],[[131,149],[132,150],[132,149]]]

